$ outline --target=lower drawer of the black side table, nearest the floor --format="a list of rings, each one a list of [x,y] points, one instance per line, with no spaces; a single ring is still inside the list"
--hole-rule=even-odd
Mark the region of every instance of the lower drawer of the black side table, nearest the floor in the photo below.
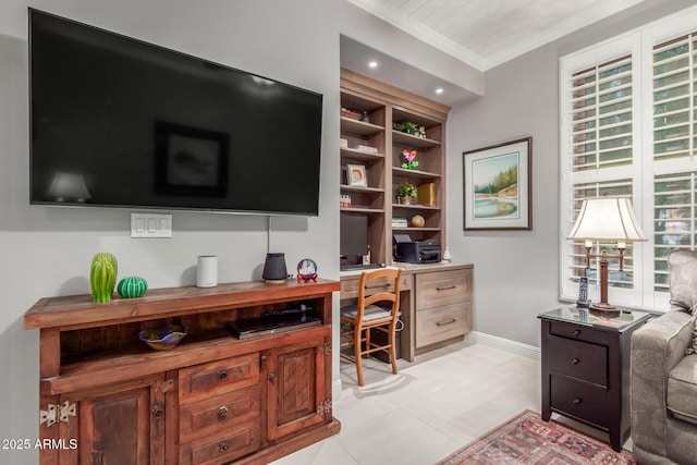
[[[602,428],[608,427],[608,391],[551,375],[551,407]]]

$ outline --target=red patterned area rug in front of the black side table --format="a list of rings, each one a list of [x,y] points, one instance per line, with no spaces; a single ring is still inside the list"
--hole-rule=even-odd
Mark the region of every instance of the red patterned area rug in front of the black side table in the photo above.
[[[610,444],[575,431],[554,420],[542,421],[525,411],[438,465],[500,464],[631,464],[632,453],[614,452]]]

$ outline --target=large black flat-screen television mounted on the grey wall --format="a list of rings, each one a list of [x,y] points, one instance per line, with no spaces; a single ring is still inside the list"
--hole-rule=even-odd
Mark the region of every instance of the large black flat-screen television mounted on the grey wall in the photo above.
[[[29,81],[32,204],[318,215],[320,94],[33,9]]]

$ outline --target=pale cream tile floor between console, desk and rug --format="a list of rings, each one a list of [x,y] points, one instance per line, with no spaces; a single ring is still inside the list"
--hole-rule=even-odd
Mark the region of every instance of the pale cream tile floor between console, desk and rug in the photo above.
[[[540,411],[538,360],[464,341],[398,366],[394,376],[389,364],[367,360],[359,388],[355,366],[342,360],[343,391],[333,403],[341,432],[273,464],[432,465],[525,408]]]

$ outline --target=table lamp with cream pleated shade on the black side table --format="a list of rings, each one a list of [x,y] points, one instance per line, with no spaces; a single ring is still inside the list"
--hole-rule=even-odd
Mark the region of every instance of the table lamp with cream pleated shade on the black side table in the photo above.
[[[590,305],[590,309],[616,314],[617,308],[608,303],[608,258],[619,258],[620,271],[623,271],[626,243],[646,241],[629,199],[600,197],[584,200],[567,238],[586,241],[586,270],[590,267],[591,257],[600,258],[600,302]],[[600,255],[590,254],[592,241],[616,241],[620,254],[608,255],[606,250]]]

